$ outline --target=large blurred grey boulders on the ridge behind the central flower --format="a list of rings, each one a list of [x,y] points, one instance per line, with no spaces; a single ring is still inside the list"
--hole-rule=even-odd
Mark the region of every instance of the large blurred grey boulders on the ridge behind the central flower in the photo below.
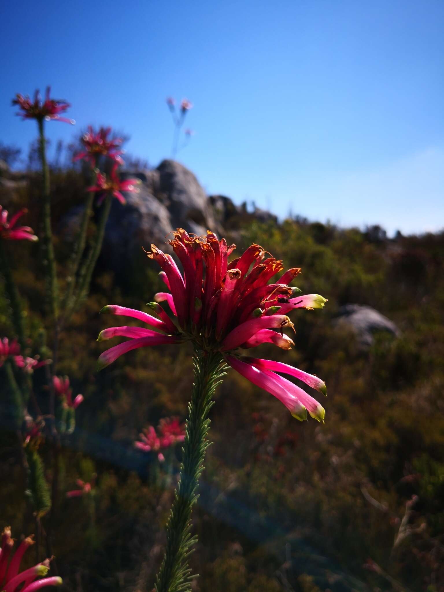
[[[122,172],[121,178],[139,178],[139,193],[125,193],[126,205],[114,200],[105,230],[104,253],[114,271],[123,271],[128,260],[149,249],[150,243],[164,244],[178,227],[189,233],[205,234],[207,229],[223,234],[236,229],[239,221],[272,220],[276,216],[246,204],[235,205],[229,197],[207,197],[195,175],[175,160],[163,160],[153,170]],[[65,215],[59,230],[67,240],[76,236],[82,207]],[[168,247],[166,247],[168,249]]]

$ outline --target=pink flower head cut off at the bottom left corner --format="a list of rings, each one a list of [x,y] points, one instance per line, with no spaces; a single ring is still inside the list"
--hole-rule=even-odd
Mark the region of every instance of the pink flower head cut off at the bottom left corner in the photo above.
[[[4,592],[35,592],[46,586],[59,586],[62,578],[46,578],[51,559],[20,570],[21,560],[28,547],[34,545],[34,535],[23,539],[15,553],[14,539],[11,538],[11,527],[7,526],[2,534],[2,546],[0,549],[0,589]]]

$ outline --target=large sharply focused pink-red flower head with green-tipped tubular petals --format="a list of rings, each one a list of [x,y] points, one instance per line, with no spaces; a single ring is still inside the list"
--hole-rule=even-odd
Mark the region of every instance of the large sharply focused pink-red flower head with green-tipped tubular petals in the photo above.
[[[310,310],[324,306],[326,299],[317,294],[294,297],[299,290],[288,284],[300,268],[289,269],[270,284],[283,265],[272,256],[265,258],[265,251],[258,244],[252,244],[242,256],[228,263],[235,245],[227,246],[225,239],[218,240],[210,231],[201,238],[178,229],[168,243],[181,262],[183,274],[172,256],[154,244],[148,253],[162,268],[160,276],[169,289],[169,292],[158,292],[156,303],[150,304],[160,320],[116,305],[103,308],[102,312],[138,318],[151,329],[111,327],[102,331],[99,340],[113,336],[130,337],[130,340],[102,353],[99,369],[131,349],[191,340],[203,352],[220,352],[232,368],[278,398],[297,419],[307,419],[308,412],[322,421],[325,412],[316,399],[280,374],[297,378],[326,394],[321,379],[288,364],[242,358],[238,351],[262,343],[291,349],[294,343],[283,333],[285,328],[293,327],[287,313],[294,308]],[[163,301],[168,302],[174,322],[160,306]]]

